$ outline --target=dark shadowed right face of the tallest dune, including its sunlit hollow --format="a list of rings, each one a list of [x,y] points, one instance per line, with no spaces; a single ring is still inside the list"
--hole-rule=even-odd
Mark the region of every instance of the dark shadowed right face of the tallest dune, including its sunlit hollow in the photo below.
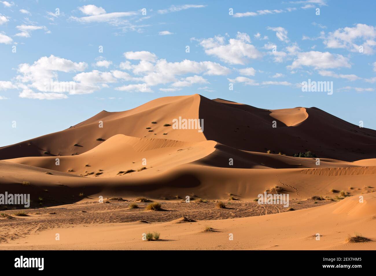
[[[376,156],[376,131],[314,107],[265,110],[201,97],[199,115],[206,139],[237,149],[287,155],[312,151],[320,158],[345,161]]]

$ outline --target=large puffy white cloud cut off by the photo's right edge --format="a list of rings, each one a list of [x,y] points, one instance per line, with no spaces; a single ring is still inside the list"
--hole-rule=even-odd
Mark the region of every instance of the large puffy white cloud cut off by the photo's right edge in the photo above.
[[[355,27],[340,28],[328,33],[324,37],[324,44],[327,48],[345,48],[358,53],[359,47],[363,47],[364,54],[373,54],[376,46],[375,38],[376,27],[368,26],[367,24],[356,24]]]

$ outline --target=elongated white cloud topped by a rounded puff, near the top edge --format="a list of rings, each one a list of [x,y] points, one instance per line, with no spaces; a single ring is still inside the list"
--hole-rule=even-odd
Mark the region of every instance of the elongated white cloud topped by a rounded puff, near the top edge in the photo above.
[[[83,14],[88,15],[85,17],[74,17],[71,16],[70,19],[80,22],[80,23],[109,23],[115,26],[128,23],[124,20],[124,17],[130,17],[132,15],[137,15],[136,12],[110,12],[107,13],[102,7],[97,7],[95,5],[86,5],[78,8]]]

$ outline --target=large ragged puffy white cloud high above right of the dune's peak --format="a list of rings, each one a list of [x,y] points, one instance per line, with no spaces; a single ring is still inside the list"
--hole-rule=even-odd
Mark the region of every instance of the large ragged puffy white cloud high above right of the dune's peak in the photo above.
[[[192,38],[193,40],[197,40]],[[229,64],[245,64],[249,59],[257,59],[262,54],[250,43],[249,35],[238,32],[236,39],[229,39],[225,44],[223,36],[199,40],[208,55],[216,56]]]

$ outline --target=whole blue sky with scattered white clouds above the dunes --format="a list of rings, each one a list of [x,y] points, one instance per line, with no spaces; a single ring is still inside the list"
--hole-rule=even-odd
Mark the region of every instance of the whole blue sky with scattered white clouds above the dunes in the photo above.
[[[371,0],[0,1],[0,146],[102,110],[196,93],[265,109],[315,106],[376,129],[375,8]],[[308,79],[333,81],[334,93],[303,92]]]

